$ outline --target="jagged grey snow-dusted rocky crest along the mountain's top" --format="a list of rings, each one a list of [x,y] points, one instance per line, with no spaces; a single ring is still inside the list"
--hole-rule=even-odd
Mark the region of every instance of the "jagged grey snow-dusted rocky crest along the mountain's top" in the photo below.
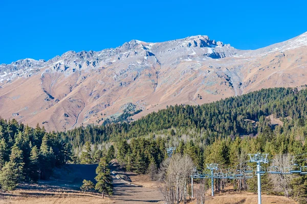
[[[172,50],[180,47],[207,47],[207,54],[205,56],[211,58],[223,58],[236,54],[235,49],[230,47],[230,44],[225,45],[221,41],[215,42],[215,40],[210,40],[208,36],[192,36],[163,43],[146,43],[139,40],[131,40],[117,48],[104,49],[100,52],[90,50],[88,52],[81,51],[76,53],[69,51],[48,61],[27,58],[12,62],[11,64],[0,64],[0,80],[4,83],[16,77],[30,77],[31,74],[39,72],[39,69],[45,67],[52,67],[49,69],[60,72],[67,71],[68,69],[68,72],[74,72],[97,66],[107,67],[121,58],[133,57],[135,55],[141,55],[145,58],[155,56],[155,54],[151,53],[151,49],[159,50],[160,46],[161,50],[161,47],[166,48],[169,44],[175,44],[175,47],[171,48]],[[227,47],[230,50],[225,50],[223,47]],[[192,55],[195,54],[192,53]]]

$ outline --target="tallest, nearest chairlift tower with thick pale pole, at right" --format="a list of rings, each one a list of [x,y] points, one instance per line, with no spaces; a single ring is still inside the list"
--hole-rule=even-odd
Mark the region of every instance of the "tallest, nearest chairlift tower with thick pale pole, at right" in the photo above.
[[[248,154],[250,157],[250,162],[255,162],[257,163],[257,182],[258,182],[258,204],[261,204],[261,174],[265,173],[265,169],[263,169],[260,164],[268,163],[268,155],[269,154]]]

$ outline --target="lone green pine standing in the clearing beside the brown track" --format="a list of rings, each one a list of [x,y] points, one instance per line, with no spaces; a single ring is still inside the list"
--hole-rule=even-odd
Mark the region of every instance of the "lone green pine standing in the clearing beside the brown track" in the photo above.
[[[97,181],[97,184],[95,189],[102,193],[102,198],[104,198],[104,193],[112,195],[113,185],[111,183],[111,170],[108,167],[105,157],[100,160],[99,165],[96,168],[96,174],[97,176],[95,177],[95,180]]]

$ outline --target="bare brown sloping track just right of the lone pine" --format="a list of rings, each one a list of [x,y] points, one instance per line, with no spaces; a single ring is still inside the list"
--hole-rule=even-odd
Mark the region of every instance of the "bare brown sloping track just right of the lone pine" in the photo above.
[[[112,184],[114,186],[113,196],[115,203],[165,203],[164,198],[159,190],[144,188],[126,182],[117,175],[117,163],[110,165],[112,170]]]

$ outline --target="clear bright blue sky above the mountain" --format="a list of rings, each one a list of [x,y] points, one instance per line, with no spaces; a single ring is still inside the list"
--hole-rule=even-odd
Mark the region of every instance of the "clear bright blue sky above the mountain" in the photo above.
[[[191,35],[255,49],[306,32],[306,2],[0,0],[0,64]]]

